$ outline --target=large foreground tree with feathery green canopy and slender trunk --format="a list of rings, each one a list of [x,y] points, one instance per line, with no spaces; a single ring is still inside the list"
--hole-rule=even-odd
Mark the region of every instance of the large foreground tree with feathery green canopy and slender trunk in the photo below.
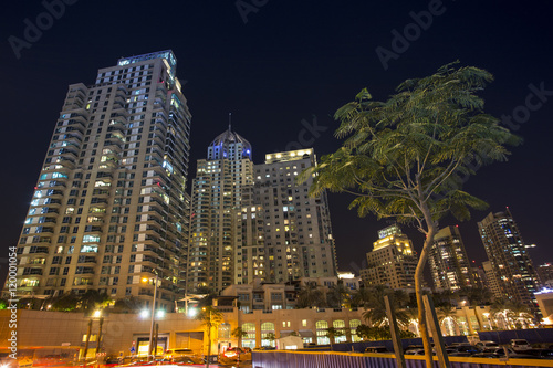
[[[313,197],[325,190],[352,193],[356,198],[349,208],[361,217],[396,218],[425,235],[415,290],[428,368],[432,360],[421,287],[438,220],[448,213],[467,220],[470,208],[484,209],[482,200],[461,190],[463,181],[481,165],[504,160],[504,145],[519,141],[483,113],[483,99],[476,95],[492,75],[455,64],[405,81],[385,102],[372,101],[363,90],[335,114],[341,122],[336,137],[347,137],[343,146],[299,178],[313,176]]]

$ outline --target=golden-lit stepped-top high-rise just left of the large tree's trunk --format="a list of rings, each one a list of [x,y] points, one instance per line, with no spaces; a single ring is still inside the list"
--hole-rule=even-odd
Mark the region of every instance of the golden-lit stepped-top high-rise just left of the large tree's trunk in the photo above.
[[[361,270],[365,286],[415,288],[417,256],[411,241],[396,224],[378,231],[378,238],[366,254],[367,267]]]

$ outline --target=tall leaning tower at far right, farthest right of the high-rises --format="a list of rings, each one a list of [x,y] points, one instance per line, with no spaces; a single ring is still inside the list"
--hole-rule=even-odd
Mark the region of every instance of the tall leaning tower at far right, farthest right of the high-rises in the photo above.
[[[498,282],[498,297],[524,303],[535,311],[538,275],[509,208],[489,213],[478,222],[478,230]]]

